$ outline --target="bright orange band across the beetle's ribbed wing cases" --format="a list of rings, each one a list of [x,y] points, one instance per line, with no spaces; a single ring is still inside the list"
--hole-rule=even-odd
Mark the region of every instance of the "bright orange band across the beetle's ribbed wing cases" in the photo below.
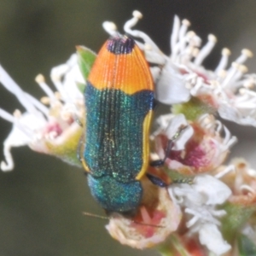
[[[105,43],[88,80],[98,90],[123,90],[129,95],[140,90],[154,90],[148,63],[136,44],[131,53],[115,55],[108,51]]]

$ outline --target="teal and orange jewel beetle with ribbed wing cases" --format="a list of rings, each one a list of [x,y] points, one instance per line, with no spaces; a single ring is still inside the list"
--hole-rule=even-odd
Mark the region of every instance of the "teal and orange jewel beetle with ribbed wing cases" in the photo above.
[[[91,194],[107,212],[134,212],[148,168],[154,82],[133,38],[116,34],[103,44],[84,102],[79,154]]]

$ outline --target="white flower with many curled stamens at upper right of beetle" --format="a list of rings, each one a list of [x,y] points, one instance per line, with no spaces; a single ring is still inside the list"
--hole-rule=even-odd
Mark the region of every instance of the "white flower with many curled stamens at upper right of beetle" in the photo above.
[[[153,63],[151,71],[156,84],[155,98],[165,104],[188,102],[191,96],[208,96],[207,104],[218,110],[220,116],[240,125],[256,126],[256,84],[255,74],[247,74],[243,65],[253,54],[242,49],[241,55],[228,67],[229,49],[223,49],[222,58],[214,71],[207,70],[202,62],[217,42],[213,35],[201,47],[201,38],[189,31],[189,20],[182,22],[174,18],[170,56],[164,55],[154,41],[144,32],[133,30],[143,17],[138,11],[125,23],[124,30],[143,43],[137,42],[143,49],[148,62]],[[113,34],[116,27],[105,22],[104,28]]]

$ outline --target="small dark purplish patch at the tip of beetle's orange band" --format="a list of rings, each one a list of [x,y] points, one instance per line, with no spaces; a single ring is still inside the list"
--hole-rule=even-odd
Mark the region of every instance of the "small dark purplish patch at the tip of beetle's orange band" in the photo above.
[[[108,39],[107,49],[115,55],[126,55],[131,53],[134,45],[135,42],[132,38],[113,37]]]

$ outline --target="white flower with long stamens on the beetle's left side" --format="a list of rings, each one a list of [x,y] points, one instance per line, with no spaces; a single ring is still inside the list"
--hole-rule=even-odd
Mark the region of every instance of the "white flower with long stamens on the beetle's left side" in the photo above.
[[[73,157],[67,152],[68,147],[75,145],[67,143],[68,138],[81,136],[81,127],[76,119],[83,119],[83,95],[78,89],[78,83],[84,84],[84,79],[79,72],[77,56],[72,55],[67,63],[51,70],[51,79],[55,85],[55,91],[51,90],[44,82],[44,77],[38,75],[36,81],[44,90],[46,96],[36,98],[21,90],[9,74],[0,66],[0,82],[13,93],[26,109],[25,113],[15,110],[11,115],[0,109],[0,116],[13,123],[13,129],[9,137],[3,143],[5,161],[1,162],[3,171],[14,168],[14,161],[10,153],[11,148],[28,145],[35,151],[61,156],[63,160],[75,163]],[[77,139],[78,143],[79,138]],[[64,141],[67,143],[64,146]],[[53,148],[52,146],[55,145]],[[70,154],[69,154],[70,153]],[[66,156],[65,156],[66,154]]]

